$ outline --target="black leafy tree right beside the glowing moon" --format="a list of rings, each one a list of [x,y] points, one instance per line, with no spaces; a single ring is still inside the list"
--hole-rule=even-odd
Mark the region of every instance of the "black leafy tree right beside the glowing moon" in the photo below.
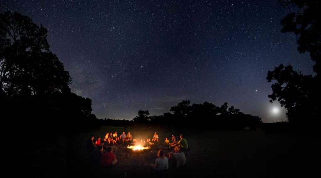
[[[276,80],[272,84],[273,93],[268,95],[272,101],[279,101],[281,106],[288,109],[287,117],[289,122],[317,122],[320,113],[320,98],[317,91],[316,77],[303,75],[294,71],[291,65],[276,67],[268,72],[268,82]]]

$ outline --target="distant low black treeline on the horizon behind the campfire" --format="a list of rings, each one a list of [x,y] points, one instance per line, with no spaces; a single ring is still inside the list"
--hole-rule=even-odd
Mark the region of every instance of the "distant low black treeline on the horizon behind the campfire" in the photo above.
[[[225,102],[220,107],[212,103],[190,104],[183,100],[172,106],[172,113],[160,116],[150,116],[148,110],[139,110],[138,115],[132,120],[100,119],[103,125],[157,125],[164,128],[194,128],[194,129],[257,129],[262,124],[260,117],[244,114],[233,106],[228,107]]]

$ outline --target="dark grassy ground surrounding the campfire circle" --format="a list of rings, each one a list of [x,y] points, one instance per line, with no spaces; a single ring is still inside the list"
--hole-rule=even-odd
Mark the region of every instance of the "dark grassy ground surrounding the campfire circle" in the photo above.
[[[103,137],[106,131],[130,131],[133,137],[150,138],[154,130],[122,127],[101,127],[92,133],[76,134],[68,139],[56,139],[61,146],[43,148],[32,153],[29,169],[33,177],[93,177],[89,169],[86,140],[90,134]],[[157,131],[160,140],[172,133]],[[175,133],[178,134],[178,133]],[[185,133],[191,148],[187,165],[181,170],[171,170],[170,177],[318,177],[321,158],[320,139],[302,134],[269,134],[264,131],[213,131]],[[170,138],[169,138],[170,139]],[[57,144],[52,144],[57,145]],[[65,149],[64,149],[65,148]],[[51,149],[51,150],[50,150]],[[101,168],[98,177],[151,177],[147,165],[156,155],[149,151],[132,153],[118,146],[114,152],[118,164]],[[125,155],[124,155],[125,153]],[[127,158],[127,155],[130,155]],[[28,161],[28,160],[27,160]],[[27,164],[28,162],[26,162]],[[95,175],[96,176],[96,175]]]

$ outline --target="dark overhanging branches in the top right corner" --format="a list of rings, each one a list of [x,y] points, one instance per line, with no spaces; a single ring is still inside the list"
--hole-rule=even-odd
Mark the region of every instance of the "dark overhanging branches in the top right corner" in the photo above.
[[[282,33],[292,32],[297,36],[300,53],[309,52],[317,74],[321,74],[321,4],[318,0],[279,0],[284,6],[294,5],[282,20]]]

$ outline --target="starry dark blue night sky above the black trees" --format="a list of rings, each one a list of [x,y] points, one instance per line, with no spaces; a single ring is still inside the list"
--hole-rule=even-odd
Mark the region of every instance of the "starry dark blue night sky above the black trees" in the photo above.
[[[313,74],[295,36],[280,31],[290,11],[277,0],[0,0],[7,10],[48,29],[72,91],[92,99],[98,118],[132,119],[140,109],[160,115],[190,100],[286,120],[267,97],[267,71],[283,63]]]

